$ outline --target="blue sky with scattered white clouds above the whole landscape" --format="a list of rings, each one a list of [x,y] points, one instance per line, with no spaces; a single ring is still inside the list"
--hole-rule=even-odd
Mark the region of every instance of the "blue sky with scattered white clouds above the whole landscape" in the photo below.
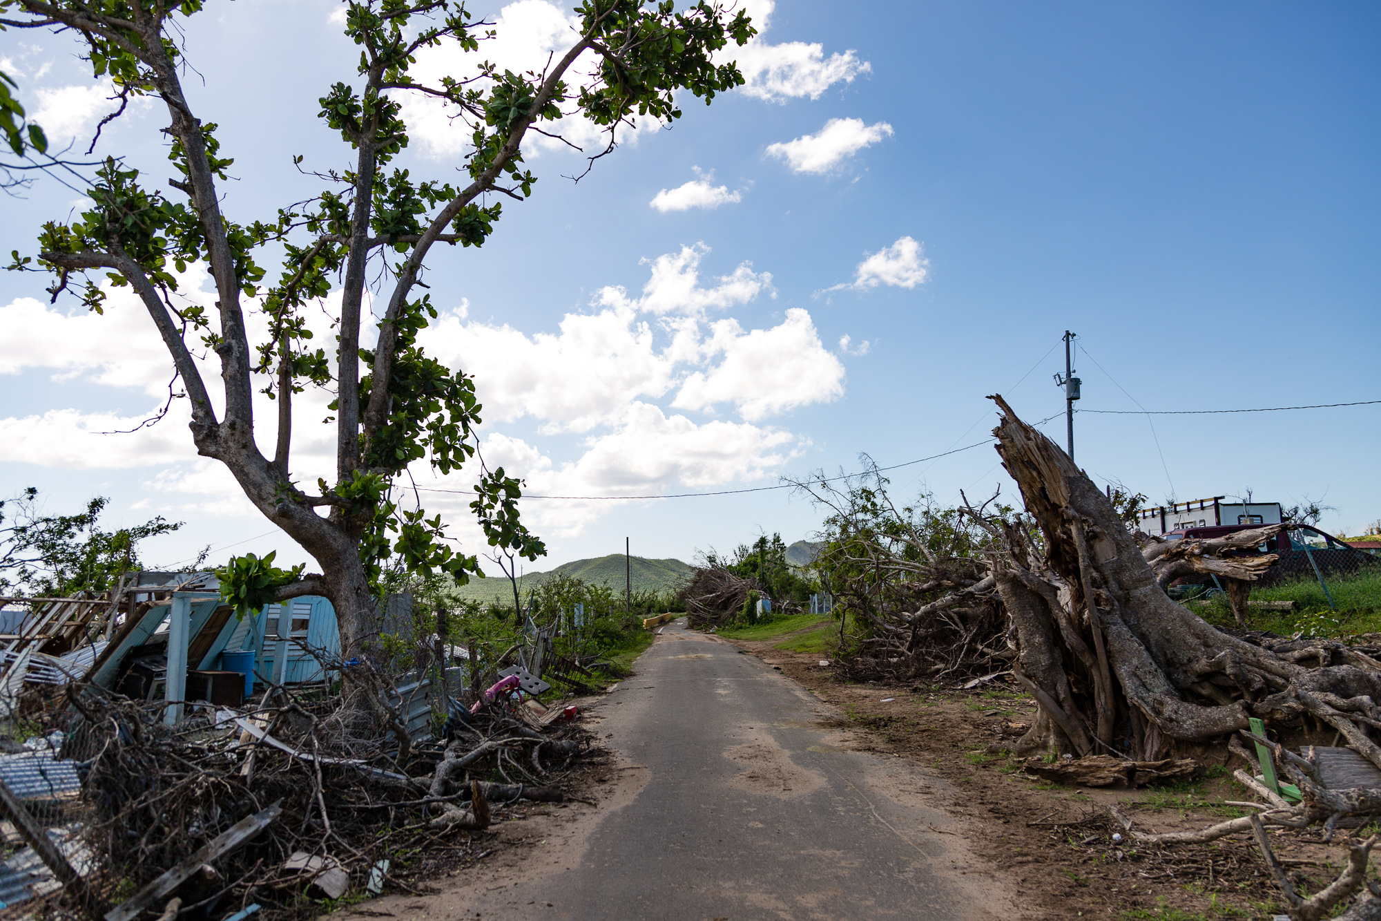
[[[315,119],[327,86],[354,77],[336,10],[213,0],[189,24],[204,86],[185,83],[236,158],[238,220],[318,189],[294,154],[348,166]],[[478,10],[501,40],[528,36],[494,46],[515,61],[561,35],[543,0]],[[431,347],[478,375],[486,456],[563,495],[772,485],[855,470],[859,452],[891,465],[982,441],[986,394],[1029,420],[1062,411],[1065,329],[1084,350],[1085,409],[1381,398],[1378,29],[1360,3],[782,0],[744,57],[758,68],[747,90],[686,100],[671,130],[639,131],[579,184],[562,178],[577,156],[529,155],[533,199],[507,203],[482,250],[431,260],[447,311]],[[87,138],[108,104],[69,39],[0,43],[30,112]],[[435,112],[410,118],[409,169],[453,176],[454,134]],[[164,119],[135,108],[97,149],[162,181]],[[718,203],[663,210],[660,192]],[[0,249],[33,252],[37,225],[79,198],[41,180],[7,199]],[[101,494],[113,523],[188,521],[155,561],[207,543],[214,559],[302,559],[174,416],[91,434],[160,404],[168,362],[146,317],[50,308],[46,283],[0,277],[4,492],[37,485],[52,512]],[[1157,416],[1155,434],[1145,416],[1081,413],[1076,456],[1157,502],[1322,498],[1338,509],[1326,528],[1356,531],[1381,517],[1378,412]],[[1062,418],[1044,429],[1062,443]],[[924,485],[940,502],[1014,491],[990,447],[892,476],[903,496]],[[431,485],[464,488],[452,480]],[[429,496],[464,535],[463,503]],[[543,568],[626,535],[635,553],[690,559],[820,520],[789,491],[526,509],[548,537]]]

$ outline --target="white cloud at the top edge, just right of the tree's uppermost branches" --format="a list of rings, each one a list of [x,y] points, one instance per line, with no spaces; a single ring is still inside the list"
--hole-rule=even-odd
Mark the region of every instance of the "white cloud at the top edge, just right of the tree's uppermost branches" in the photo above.
[[[867,73],[873,66],[860,61],[849,50],[844,54],[824,57],[824,46],[819,41],[786,41],[768,44],[762,39],[771,22],[772,0],[747,3],[749,15],[758,35],[739,47],[729,44],[715,55],[717,62],[736,61],[743,72],[742,91],[768,102],[786,102],[789,98],[820,98],[827,89],[838,82],[852,83],[853,77]]]

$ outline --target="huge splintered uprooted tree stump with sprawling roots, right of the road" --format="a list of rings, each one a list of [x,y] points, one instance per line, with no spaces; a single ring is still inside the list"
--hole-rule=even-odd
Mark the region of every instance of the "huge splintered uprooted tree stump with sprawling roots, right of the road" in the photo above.
[[[1381,766],[1369,736],[1381,726],[1373,703],[1381,662],[1337,643],[1276,653],[1177,604],[1153,568],[1155,548],[1143,553],[1102,490],[992,398],[1003,411],[997,452],[1039,528],[1001,523],[1007,550],[993,563],[1016,628],[1014,673],[1040,705],[1018,754],[1161,761],[1175,741],[1226,736],[1246,729],[1248,716],[1309,714]],[[1250,579],[1250,567],[1242,575]],[[1306,667],[1309,658],[1320,665]]]

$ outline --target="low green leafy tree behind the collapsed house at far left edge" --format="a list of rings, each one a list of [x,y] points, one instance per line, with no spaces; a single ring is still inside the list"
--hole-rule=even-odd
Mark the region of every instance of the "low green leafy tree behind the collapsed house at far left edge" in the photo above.
[[[33,487],[0,501],[0,593],[25,597],[66,597],[105,592],[126,573],[144,568],[139,542],[171,534],[181,521],[162,516],[133,528],[104,531],[105,496],[76,514],[43,514]],[[206,559],[206,550],[195,566]]]

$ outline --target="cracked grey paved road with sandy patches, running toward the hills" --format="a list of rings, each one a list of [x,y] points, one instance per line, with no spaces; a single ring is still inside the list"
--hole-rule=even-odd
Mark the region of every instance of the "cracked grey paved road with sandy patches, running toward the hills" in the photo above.
[[[679,624],[591,712],[627,781],[579,846],[563,845],[577,856],[429,899],[428,917],[1015,917],[964,838],[936,831],[958,828],[925,805],[939,781],[842,748],[829,707]]]

